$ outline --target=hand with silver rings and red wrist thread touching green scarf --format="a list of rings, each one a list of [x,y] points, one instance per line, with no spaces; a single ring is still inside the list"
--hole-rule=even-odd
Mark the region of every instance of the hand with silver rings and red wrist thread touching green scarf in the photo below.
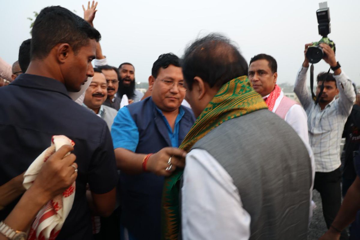
[[[186,152],[177,148],[163,148],[157,153],[151,155],[147,162],[147,169],[150,172],[159,176],[170,176],[176,167],[185,167]],[[168,160],[171,157],[171,170],[167,171],[169,167]]]

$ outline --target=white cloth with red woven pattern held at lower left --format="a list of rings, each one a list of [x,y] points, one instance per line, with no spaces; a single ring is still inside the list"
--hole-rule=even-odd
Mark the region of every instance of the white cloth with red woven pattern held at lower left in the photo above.
[[[51,146],[45,149],[25,172],[23,182],[25,189],[29,189],[32,185],[46,160],[48,160],[48,158],[63,145],[74,146],[75,143],[63,135],[53,136],[51,139]],[[68,154],[70,154],[70,152],[66,155]],[[28,239],[55,239],[72,208],[74,197],[75,182],[73,182],[62,194],[59,194],[50,200],[42,207],[39,213],[37,213],[35,221],[32,223]]]

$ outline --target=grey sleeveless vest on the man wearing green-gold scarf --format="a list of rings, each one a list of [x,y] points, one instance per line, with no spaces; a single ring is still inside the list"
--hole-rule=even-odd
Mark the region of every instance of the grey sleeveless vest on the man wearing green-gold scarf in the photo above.
[[[233,178],[251,216],[250,239],[307,239],[310,157],[283,119],[258,110],[222,123],[194,148],[208,151]]]

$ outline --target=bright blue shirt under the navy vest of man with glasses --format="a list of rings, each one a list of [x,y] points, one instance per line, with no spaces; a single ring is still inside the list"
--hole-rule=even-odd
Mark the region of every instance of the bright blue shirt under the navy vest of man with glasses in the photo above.
[[[168,123],[162,111],[156,107],[156,110],[161,115],[162,120],[164,121],[169,135],[171,146],[178,148],[179,144],[179,122],[184,116],[184,109],[180,106],[179,114],[175,119],[174,131],[172,131],[170,124]],[[115,127],[114,127],[115,126]],[[132,119],[129,109],[125,106],[119,110],[117,113],[113,127],[111,128],[111,136],[113,138],[114,149],[115,148],[125,148],[127,150],[135,152],[136,147],[139,144],[139,130],[136,126],[134,119]]]

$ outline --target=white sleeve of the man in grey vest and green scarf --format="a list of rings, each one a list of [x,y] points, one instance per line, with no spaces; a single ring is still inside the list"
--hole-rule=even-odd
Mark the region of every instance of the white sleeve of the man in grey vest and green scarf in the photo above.
[[[193,149],[186,155],[181,193],[184,240],[249,239],[251,218],[238,189],[206,150]]]

